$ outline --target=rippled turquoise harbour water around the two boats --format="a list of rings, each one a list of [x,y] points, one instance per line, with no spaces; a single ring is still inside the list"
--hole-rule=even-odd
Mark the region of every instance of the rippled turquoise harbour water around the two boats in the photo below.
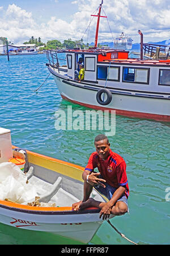
[[[87,108],[61,99],[48,69],[45,54],[0,56],[0,127],[11,129],[12,144],[86,166],[100,131],[57,131],[58,110]],[[109,137],[114,152],[124,157],[130,187],[130,214],[111,222],[139,244],[170,244],[170,124],[116,116],[116,134]],[[170,198],[170,196],[169,196]],[[80,244],[54,234],[44,234],[0,224],[0,244]],[[105,221],[90,244],[130,244]]]

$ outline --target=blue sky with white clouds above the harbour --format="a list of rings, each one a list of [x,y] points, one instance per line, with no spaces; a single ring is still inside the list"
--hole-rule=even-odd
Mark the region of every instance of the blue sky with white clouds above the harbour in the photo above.
[[[112,35],[116,37],[124,31],[133,38],[133,43],[139,43],[139,29],[145,42],[170,39],[170,0],[103,2],[108,20],[101,18],[99,42],[112,41]],[[40,36],[44,42],[79,40],[100,3],[101,0],[0,0],[0,36],[13,43],[23,43],[31,36]],[[95,28],[96,18],[83,37],[84,43],[94,41]]]

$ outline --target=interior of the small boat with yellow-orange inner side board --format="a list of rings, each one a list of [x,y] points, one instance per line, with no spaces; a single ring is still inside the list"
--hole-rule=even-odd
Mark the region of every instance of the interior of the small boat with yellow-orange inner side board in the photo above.
[[[16,157],[18,152],[13,150],[13,154]],[[26,159],[25,176],[30,188],[35,188],[35,198],[23,202],[20,197],[15,203],[41,207],[72,207],[73,203],[82,200],[82,167],[28,151]],[[95,189],[91,197],[101,202],[106,201]],[[10,199],[6,200],[14,203]]]

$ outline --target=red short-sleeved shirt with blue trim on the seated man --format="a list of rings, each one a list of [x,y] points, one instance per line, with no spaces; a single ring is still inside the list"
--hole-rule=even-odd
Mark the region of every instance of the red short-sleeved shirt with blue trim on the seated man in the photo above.
[[[112,152],[110,149],[109,157],[103,160],[98,156],[97,152],[92,153],[85,170],[94,171],[96,167],[110,186],[115,188],[124,186],[126,188],[125,195],[128,198],[129,186],[126,175],[126,163],[119,154]]]

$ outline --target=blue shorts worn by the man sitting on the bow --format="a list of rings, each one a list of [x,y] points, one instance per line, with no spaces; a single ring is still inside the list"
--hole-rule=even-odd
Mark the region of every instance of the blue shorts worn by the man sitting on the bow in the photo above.
[[[96,190],[99,193],[106,196],[107,199],[111,200],[111,198],[112,198],[114,192],[117,190],[117,188],[110,186],[108,183],[104,183],[104,184],[105,184],[105,188],[101,187],[100,185],[97,185],[94,188],[96,188]],[[119,202],[119,201],[124,202],[128,206],[128,200],[127,200],[125,194],[122,195],[122,197],[117,200],[117,202]],[[129,209],[129,207],[128,207],[128,209]]]

